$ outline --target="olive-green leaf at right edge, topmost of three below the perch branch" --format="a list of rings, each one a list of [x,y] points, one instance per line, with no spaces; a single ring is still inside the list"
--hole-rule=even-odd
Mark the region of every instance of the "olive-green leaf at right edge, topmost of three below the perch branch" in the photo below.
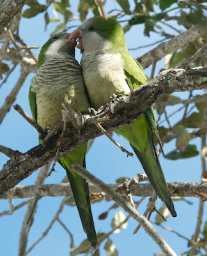
[[[203,122],[203,113],[194,112],[187,118],[181,120],[178,125],[183,125],[187,128],[199,128]]]

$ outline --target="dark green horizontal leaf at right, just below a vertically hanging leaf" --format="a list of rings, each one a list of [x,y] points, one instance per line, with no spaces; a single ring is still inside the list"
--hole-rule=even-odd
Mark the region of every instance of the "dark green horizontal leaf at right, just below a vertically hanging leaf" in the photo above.
[[[197,155],[199,155],[199,150],[197,149],[196,145],[188,145],[185,151],[178,152],[177,150],[173,150],[172,152],[165,155],[164,157],[170,160],[177,160],[177,159],[190,158]]]

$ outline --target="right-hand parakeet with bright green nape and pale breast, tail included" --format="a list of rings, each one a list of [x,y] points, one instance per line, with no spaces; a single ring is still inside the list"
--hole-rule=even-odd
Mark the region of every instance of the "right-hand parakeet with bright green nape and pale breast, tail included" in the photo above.
[[[128,93],[147,82],[143,68],[129,54],[123,29],[116,20],[88,19],[70,34],[72,38],[79,38],[77,47],[82,49],[82,75],[92,108],[104,106],[113,93]],[[130,142],[157,195],[175,217],[177,214],[155,147],[153,134],[158,141],[160,137],[153,108],[144,111],[139,120],[115,132]]]

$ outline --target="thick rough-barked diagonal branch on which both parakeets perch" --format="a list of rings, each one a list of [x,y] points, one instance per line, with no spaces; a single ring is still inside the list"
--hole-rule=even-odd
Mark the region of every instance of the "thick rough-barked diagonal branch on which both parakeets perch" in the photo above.
[[[82,116],[84,125],[81,131],[68,122],[65,137],[61,140],[60,156],[72,152],[75,147],[89,139],[102,135],[102,132],[94,124],[96,118],[109,116],[102,123],[102,127],[106,131],[112,131],[137,120],[144,110],[165,93],[207,88],[206,77],[207,68],[165,70],[144,86],[140,86],[127,95],[116,96],[106,106],[98,110],[96,116]],[[57,138],[59,138],[59,134],[52,136],[45,145],[39,145],[24,154],[11,157],[0,172],[0,194],[13,188],[22,179],[52,159],[56,155]]]

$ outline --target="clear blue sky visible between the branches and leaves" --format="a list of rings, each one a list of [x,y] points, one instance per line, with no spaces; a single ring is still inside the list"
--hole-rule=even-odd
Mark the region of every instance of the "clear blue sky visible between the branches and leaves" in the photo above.
[[[110,1],[108,1],[110,2]],[[133,3],[134,1],[130,1]],[[107,5],[107,10],[111,10],[114,7],[115,1],[111,1]],[[77,1],[71,1],[73,6],[73,11],[76,16],[77,14]],[[118,7],[118,4],[116,4]],[[52,15],[52,10],[50,10]],[[79,22],[73,22],[72,24],[80,24]],[[42,46],[50,37],[50,33],[54,31],[56,24],[49,24],[47,31],[44,31],[44,20],[43,15],[39,14],[33,19],[22,19],[20,22],[20,35],[24,39],[27,45],[40,45]],[[143,36],[143,27],[134,26],[126,34],[127,46],[128,48],[136,47],[137,45],[146,45],[151,42],[157,41],[159,38],[155,33],[151,33],[151,38]],[[167,30],[166,30],[167,31]],[[70,31],[68,31],[70,32]],[[141,55],[144,52],[149,51],[151,48],[140,49],[139,51],[132,51],[131,54],[134,57]],[[40,49],[34,50],[34,54],[38,56]],[[77,59],[80,60],[81,55],[77,51]],[[163,67],[163,60],[159,61],[156,72],[158,74],[159,70]],[[146,70],[146,74],[150,76],[150,68]],[[17,68],[13,75],[8,79],[8,82],[1,88],[1,99],[0,105],[3,104],[4,97],[8,95],[11,88],[13,88],[17,77],[19,76],[19,69]],[[31,77],[34,74],[30,74],[27,77],[26,83],[20,90],[20,93],[15,100],[15,103],[20,104],[20,106],[31,115],[29,110],[29,102],[27,99],[29,85]],[[187,93],[176,93],[179,97],[187,97]],[[172,111],[172,108],[169,108]],[[176,118],[176,117],[175,117]],[[38,144],[38,135],[36,131],[13,109],[4,118],[3,124],[0,126],[1,131],[1,145],[10,147],[13,150],[19,150],[20,152],[26,152],[29,148],[34,147]],[[119,141],[123,147],[132,151],[128,145],[128,142],[118,136],[114,135],[114,139]],[[164,152],[170,152],[174,149],[175,141],[168,143],[164,146]],[[196,143],[199,150],[201,148],[200,140],[196,139],[192,141]],[[165,178],[167,181],[181,181],[181,182],[199,182],[201,180],[201,157],[197,156],[187,160],[170,161],[164,159],[160,156],[160,162],[164,170]],[[0,167],[8,160],[3,154],[0,155]],[[86,159],[87,169],[89,172],[96,175],[99,179],[104,180],[104,182],[113,183],[119,177],[135,177],[136,173],[144,172],[142,166],[138,159],[134,156],[127,157],[123,152],[116,148],[111,141],[109,141],[105,136],[96,138],[93,147],[88,153]],[[65,170],[61,166],[56,166],[56,171],[45,180],[45,183],[58,183],[63,177],[65,177]],[[38,171],[34,172],[33,175],[27,179],[20,182],[22,185],[34,184],[34,180]],[[50,220],[54,217],[58,205],[60,204],[62,198],[42,198],[38,202],[38,212],[35,214],[34,223],[29,232],[29,248],[43,233],[45,228],[50,223]],[[199,200],[197,198],[188,198],[193,204],[189,205],[185,202],[175,202],[176,211],[178,212],[177,218],[170,217],[165,226],[171,227],[174,230],[180,232],[184,236],[191,238],[195,229],[195,216],[197,216]],[[13,200],[14,204],[17,205],[23,200]],[[144,200],[141,207],[139,207],[140,212],[144,212],[146,209],[146,204],[148,198]],[[102,202],[101,204],[93,204],[93,215],[95,220],[96,231],[110,232],[111,231],[111,219],[116,211],[119,209],[114,209],[109,213],[106,220],[98,220],[98,216],[102,212],[107,211],[107,209],[112,205],[112,202]],[[157,200],[157,207],[161,206],[160,200]],[[0,201],[0,211],[6,211],[9,209],[8,202],[6,200]],[[19,244],[19,234],[22,227],[22,220],[24,220],[24,214],[26,212],[26,206],[24,206],[19,211],[13,213],[12,216],[4,216],[0,218],[0,244],[1,244],[1,255],[17,255],[18,244]],[[206,215],[206,208],[205,214]],[[127,214],[126,214],[127,215]],[[155,215],[155,214],[154,214]],[[75,245],[78,246],[79,243],[86,237],[82,231],[81,221],[79,220],[79,215],[77,213],[76,207],[64,208],[64,211],[60,215],[61,220],[65,223],[66,227],[72,232]],[[154,217],[152,218],[154,220]],[[116,248],[120,256],[125,255],[153,255],[153,253],[161,253],[158,246],[152,241],[144,230],[141,228],[136,235],[133,235],[134,228],[137,223],[134,220],[128,222],[128,228],[126,230],[121,230],[119,234],[112,234],[111,239],[116,244]],[[169,243],[173,250],[180,254],[188,250],[187,241],[178,238],[176,235],[171,234],[161,228],[155,227],[158,232],[164,237],[164,239]],[[50,230],[49,235],[43,239],[43,241],[38,244],[34,250],[29,253],[29,255],[68,255],[70,246],[70,239],[65,230],[58,224],[55,223],[52,230]],[[101,246],[103,248],[103,246]],[[101,255],[105,255],[102,251]]]

